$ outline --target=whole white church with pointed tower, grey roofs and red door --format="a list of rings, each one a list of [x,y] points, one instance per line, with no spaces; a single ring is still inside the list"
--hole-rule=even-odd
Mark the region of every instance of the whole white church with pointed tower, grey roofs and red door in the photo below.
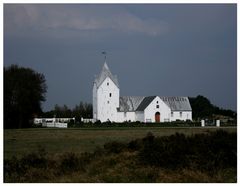
[[[188,97],[120,96],[120,87],[105,61],[93,82],[93,119],[101,122],[172,122],[192,120]]]

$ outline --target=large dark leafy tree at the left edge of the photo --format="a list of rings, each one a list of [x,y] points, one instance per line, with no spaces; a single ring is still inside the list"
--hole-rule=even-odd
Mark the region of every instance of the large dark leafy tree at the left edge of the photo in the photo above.
[[[4,67],[4,128],[29,127],[42,112],[46,91],[43,74],[18,65]]]

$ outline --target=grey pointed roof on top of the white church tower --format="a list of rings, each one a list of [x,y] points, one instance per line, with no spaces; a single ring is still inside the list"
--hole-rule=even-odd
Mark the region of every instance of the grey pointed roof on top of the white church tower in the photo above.
[[[99,87],[107,77],[109,77],[119,88],[117,77],[112,75],[111,71],[108,68],[107,63],[105,62],[102,67],[101,73],[95,78],[94,81],[97,84],[97,87]]]

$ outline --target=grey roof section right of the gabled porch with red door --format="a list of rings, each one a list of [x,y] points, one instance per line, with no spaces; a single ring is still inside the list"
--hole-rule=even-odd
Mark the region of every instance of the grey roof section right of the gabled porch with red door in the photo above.
[[[192,111],[188,97],[160,97],[171,111]]]

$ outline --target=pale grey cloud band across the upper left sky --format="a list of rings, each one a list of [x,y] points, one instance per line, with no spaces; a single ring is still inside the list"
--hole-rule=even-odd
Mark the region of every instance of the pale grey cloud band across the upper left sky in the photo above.
[[[46,32],[60,29],[75,31],[112,30],[123,33],[142,33],[156,36],[167,31],[167,24],[156,19],[142,19],[119,6],[96,7],[83,5],[5,5],[6,34],[21,34],[28,29]],[[108,11],[113,8],[115,11]],[[108,14],[106,14],[108,11]]]

